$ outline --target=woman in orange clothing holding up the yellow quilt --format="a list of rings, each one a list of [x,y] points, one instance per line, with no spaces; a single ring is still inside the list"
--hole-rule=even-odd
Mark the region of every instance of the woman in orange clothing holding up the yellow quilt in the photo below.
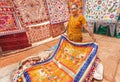
[[[80,8],[81,9],[81,8]],[[82,14],[79,14],[78,5],[72,4],[70,8],[71,16],[67,25],[67,35],[71,41],[82,42],[82,27],[89,33],[93,41],[96,41],[92,32],[89,30],[86,20]]]

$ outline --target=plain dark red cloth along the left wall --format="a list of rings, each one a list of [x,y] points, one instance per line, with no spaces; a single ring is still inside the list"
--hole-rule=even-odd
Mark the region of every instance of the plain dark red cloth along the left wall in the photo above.
[[[31,46],[25,31],[0,36],[0,46],[3,51],[23,49]]]

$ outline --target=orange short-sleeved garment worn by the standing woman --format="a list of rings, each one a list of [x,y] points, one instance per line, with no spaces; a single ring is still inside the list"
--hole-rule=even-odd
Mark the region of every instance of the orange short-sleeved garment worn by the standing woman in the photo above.
[[[86,24],[86,20],[83,15],[78,17],[70,16],[68,22],[68,38],[75,42],[82,41],[82,26]]]

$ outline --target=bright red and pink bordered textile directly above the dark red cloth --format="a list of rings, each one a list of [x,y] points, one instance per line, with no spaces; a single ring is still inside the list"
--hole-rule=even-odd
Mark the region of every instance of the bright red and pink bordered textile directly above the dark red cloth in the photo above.
[[[0,8],[0,36],[20,31],[12,8]]]

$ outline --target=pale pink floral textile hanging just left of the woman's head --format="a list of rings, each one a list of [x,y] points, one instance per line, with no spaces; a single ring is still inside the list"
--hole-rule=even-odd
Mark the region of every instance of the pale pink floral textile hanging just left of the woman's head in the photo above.
[[[69,10],[66,0],[46,0],[46,2],[51,24],[65,22],[68,20]]]

